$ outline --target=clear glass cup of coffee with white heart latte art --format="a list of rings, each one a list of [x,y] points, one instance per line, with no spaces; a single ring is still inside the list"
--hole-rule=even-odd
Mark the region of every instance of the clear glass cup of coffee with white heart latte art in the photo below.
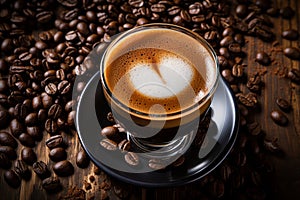
[[[198,34],[171,24],[117,36],[100,62],[101,84],[128,139],[151,156],[183,154],[218,85],[218,60]]]

